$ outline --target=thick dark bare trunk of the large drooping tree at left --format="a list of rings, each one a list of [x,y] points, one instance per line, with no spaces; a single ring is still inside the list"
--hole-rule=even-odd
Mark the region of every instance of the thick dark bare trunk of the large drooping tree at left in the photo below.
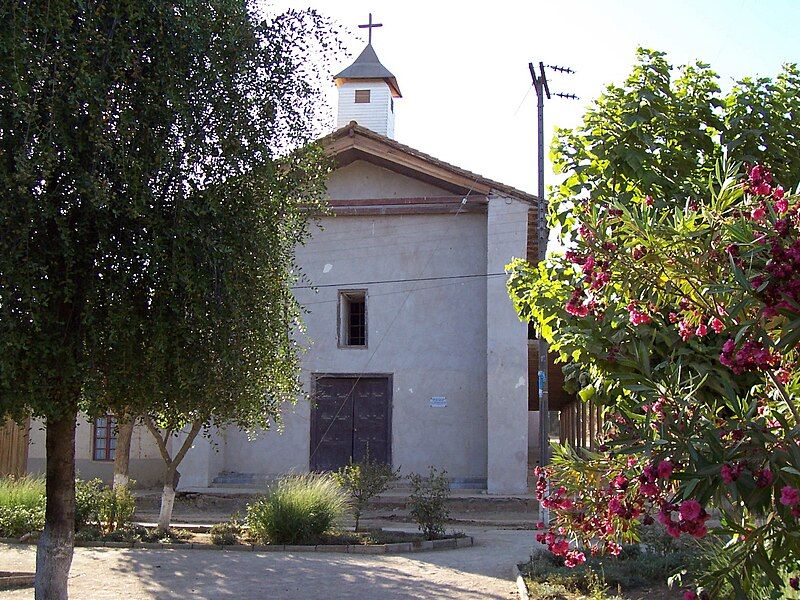
[[[47,421],[44,531],[36,548],[36,600],[66,600],[75,538],[75,420]]]

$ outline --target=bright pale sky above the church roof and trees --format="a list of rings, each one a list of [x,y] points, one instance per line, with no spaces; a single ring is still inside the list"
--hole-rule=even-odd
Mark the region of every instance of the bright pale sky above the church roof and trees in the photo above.
[[[341,68],[366,44],[366,30],[357,25],[372,12],[383,23],[373,30],[373,46],[403,93],[395,102],[395,138],[528,192],[536,189],[529,62],[576,72],[548,75],[552,92],[580,97],[546,103],[549,146],[555,126],[577,126],[604,87],[625,78],[639,46],[666,52],[673,65],[709,63],[723,89],[800,61],[800,0],[275,0],[268,6],[314,8],[342,25],[350,56]],[[328,92],[334,108],[333,82]],[[549,165],[545,178],[554,181]]]

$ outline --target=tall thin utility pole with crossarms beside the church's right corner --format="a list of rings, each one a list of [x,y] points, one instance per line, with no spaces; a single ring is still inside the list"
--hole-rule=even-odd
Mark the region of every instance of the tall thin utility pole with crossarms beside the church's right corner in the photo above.
[[[550,87],[547,83],[547,73],[545,68],[559,73],[573,74],[575,71],[567,67],[557,67],[545,65],[539,62],[538,72],[533,63],[528,63],[531,72],[533,88],[536,90],[536,112],[537,112],[537,175],[538,189],[537,195],[539,202],[536,206],[536,225],[537,225],[537,259],[541,262],[547,257],[547,240],[550,237],[550,230],[547,227],[547,208],[548,203],[545,198],[544,189],[544,101],[550,100]],[[577,100],[575,94],[555,93],[560,98]],[[547,377],[548,358],[550,348],[547,341],[539,336],[539,465],[544,466],[550,462],[550,382]],[[547,523],[549,515],[547,510],[539,505],[539,519]]]

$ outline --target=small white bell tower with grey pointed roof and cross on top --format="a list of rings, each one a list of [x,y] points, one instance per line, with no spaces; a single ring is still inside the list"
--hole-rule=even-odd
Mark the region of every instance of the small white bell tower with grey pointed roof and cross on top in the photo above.
[[[372,47],[372,29],[382,24],[359,25],[369,29],[367,47],[355,62],[334,77],[339,88],[336,128],[355,121],[375,133],[394,138],[394,99],[402,98],[394,75],[381,64]]]

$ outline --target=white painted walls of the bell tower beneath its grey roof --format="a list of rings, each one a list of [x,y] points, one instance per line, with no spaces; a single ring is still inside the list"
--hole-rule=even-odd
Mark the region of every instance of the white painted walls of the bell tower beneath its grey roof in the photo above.
[[[370,102],[356,104],[356,90],[369,90]],[[339,85],[336,128],[344,127],[350,121],[394,138],[392,92],[385,81],[346,81]]]

